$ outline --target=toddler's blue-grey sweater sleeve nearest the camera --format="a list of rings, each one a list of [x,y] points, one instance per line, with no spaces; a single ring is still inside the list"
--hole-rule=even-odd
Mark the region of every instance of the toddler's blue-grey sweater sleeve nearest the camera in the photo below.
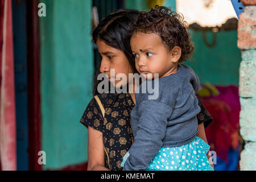
[[[147,169],[162,147],[172,108],[159,101],[145,100],[139,104],[138,113],[140,117],[137,134],[123,167],[127,171]]]

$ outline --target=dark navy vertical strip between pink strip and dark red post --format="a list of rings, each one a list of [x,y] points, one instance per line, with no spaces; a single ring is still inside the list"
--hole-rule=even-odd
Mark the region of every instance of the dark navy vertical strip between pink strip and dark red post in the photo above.
[[[28,170],[26,2],[13,1],[17,169]]]

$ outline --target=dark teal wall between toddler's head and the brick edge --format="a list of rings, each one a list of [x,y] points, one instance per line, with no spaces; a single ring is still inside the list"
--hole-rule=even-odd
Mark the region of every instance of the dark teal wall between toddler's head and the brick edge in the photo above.
[[[193,60],[187,61],[197,73],[201,83],[216,85],[238,85],[241,51],[237,48],[237,30],[217,32],[216,46],[209,48],[203,41],[201,31],[190,31],[195,44]],[[208,43],[212,43],[213,34],[207,32]]]

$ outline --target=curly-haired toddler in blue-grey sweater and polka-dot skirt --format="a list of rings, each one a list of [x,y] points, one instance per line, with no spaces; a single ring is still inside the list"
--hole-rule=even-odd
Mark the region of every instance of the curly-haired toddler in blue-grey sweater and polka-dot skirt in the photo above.
[[[159,74],[159,97],[135,93],[131,112],[134,143],[123,157],[124,170],[213,170],[209,145],[197,137],[200,112],[195,96],[200,89],[196,73],[180,63],[194,50],[182,16],[167,7],[142,12],[135,23],[131,49],[137,71],[146,78]]]

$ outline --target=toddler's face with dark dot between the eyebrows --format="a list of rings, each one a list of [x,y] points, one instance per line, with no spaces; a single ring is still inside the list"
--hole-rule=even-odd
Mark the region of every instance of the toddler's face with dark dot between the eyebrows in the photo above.
[[[131,38],[131,50],[135,56],[135,64],[139,73],[159,74],[159,78],[176,72],[177,60],[173,59],[171,51],[164,47],[160,36],[154,33],[137,32]]]

